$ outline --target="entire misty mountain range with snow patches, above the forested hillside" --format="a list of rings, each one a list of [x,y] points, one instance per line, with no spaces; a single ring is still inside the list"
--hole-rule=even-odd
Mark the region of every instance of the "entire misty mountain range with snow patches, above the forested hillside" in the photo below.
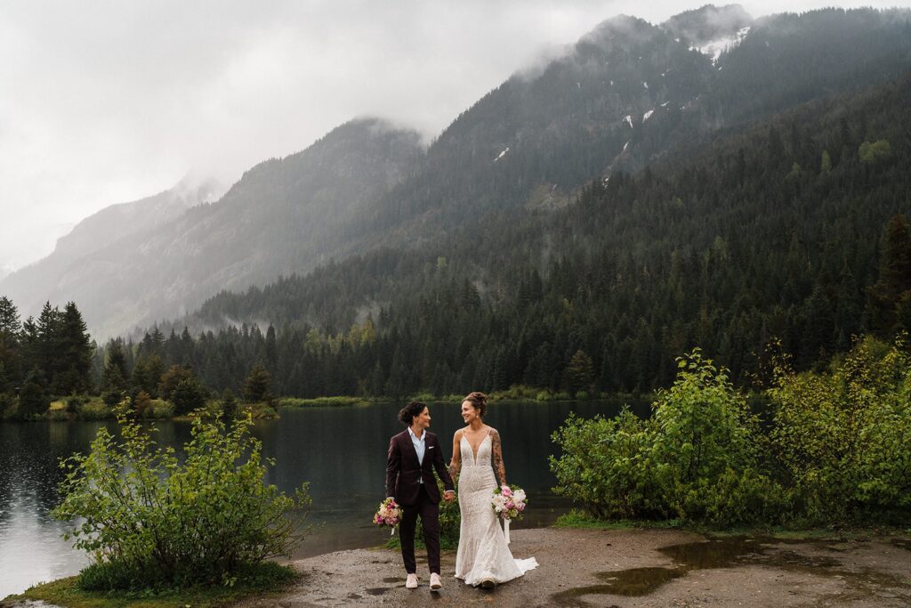
[[[899,76],[911,67],[909,15],[754,20],[732,5],[660,25],[612,18],[479,99],[429,149],[414,132],[353,121],[257,165],[216,203],[74,254],[55,281],[37,266],[16,273],[0,293],[26,310],[75,300],[94,333],[111,335],[330,258],[560,209],[592,180],[660,171],[757,120]]]

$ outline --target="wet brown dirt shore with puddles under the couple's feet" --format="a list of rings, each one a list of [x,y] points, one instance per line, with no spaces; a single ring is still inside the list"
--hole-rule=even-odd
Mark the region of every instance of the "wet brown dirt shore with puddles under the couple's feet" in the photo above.
[[[513,554],[540,564],[486,591],[452,577],[455,552],[443,555],[444,587],[404,589],[397,551],[338,551],[294,562],[302,582],[279,597],[242,608],[310,606],[858,606],[911,605],[911,541],[711,540],[673,530],[512,532]]]

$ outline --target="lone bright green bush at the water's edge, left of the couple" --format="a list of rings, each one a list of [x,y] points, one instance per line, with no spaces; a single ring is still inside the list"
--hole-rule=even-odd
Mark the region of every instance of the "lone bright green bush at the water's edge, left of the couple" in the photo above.
[[[292,499],[263,483],[274,462],[261,462],[251,420],[226,428],[196,417],[182,462],[123,405],[118,424],[119,439],[100,428],[87,456],[61,462],[67,477],[53,513],[79,521],[66,538],[94,562],[81,582],[108,589],[225,583],[302,540],[306,484]]]

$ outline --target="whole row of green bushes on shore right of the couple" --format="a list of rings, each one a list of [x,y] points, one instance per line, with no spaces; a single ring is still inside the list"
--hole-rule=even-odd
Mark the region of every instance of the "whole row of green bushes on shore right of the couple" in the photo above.
[[[553,435],[558,494],[594,520],[716,528],[904,524],[911,516],[911,356],[859,339],[821,372],[770,356],[752,413],[729,373],[692,351],[648,419],[568,417]]]

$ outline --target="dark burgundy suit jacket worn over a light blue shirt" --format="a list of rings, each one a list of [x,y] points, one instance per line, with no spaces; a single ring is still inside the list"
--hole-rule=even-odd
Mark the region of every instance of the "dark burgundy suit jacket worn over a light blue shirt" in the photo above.
[[[440,501],[440,490],[436,487],[434,469],[443,479],[446,490],[454,489],[453,479],[449,476],[443,462],[443,448],[436,436],[424,431],[424,463],[418,463],[415,444],[412,443],[408,429],[394,435],[389,440],[389,453],[386,457],[386,496],[392,496],[396,502],[405,507],[417,503],[421,489],[420,479],[424,479],[427,495],[434,502]]]

